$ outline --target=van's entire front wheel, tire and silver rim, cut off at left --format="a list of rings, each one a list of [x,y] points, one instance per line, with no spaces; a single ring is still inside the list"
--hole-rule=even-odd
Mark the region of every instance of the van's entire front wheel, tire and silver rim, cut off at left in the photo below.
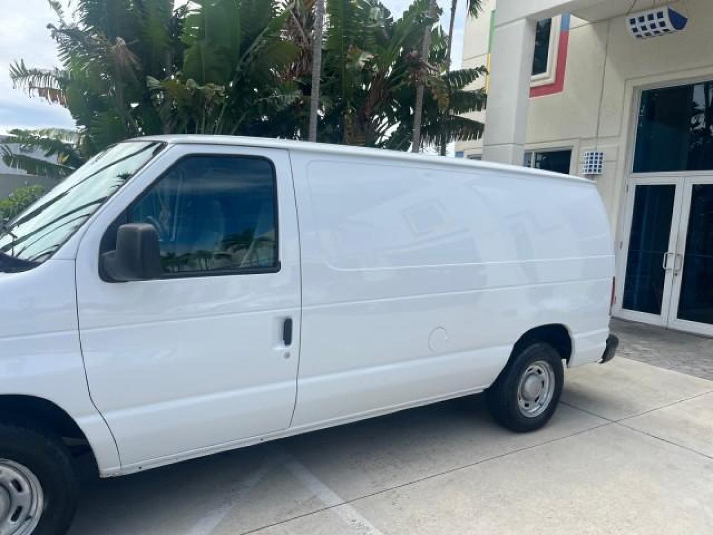
[[[60,439],[0,423],[0,534],[64,534],[77,499],[78,479]]]

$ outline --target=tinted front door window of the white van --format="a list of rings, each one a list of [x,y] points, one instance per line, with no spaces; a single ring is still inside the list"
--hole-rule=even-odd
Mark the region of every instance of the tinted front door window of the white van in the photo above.
[[[158,231],[168,276],[275,272],[277,186],[265,158],[189,156],[128,210]]]

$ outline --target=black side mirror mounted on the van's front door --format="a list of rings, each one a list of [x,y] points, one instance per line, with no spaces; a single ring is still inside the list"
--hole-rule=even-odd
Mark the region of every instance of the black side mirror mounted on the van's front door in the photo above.
[[[121,225],[116,232],[116,250],[101,255],[101,271],[112,282],[162,277],[161,248],[153,225]]]

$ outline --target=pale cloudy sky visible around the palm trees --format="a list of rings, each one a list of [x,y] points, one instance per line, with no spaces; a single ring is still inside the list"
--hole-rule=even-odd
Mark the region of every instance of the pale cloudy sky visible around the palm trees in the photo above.
[[[411,0],[382,0],[394,16],[399,16]],[[5,3],[5,2],[4,2]],[[461,65],[463,51],[463,26],[466,19],[465,1],[459,2],[453,37],[453,66]],[[441,24],[448,25],[451,2],[438,0],[443,8]],[[8,1],[2,9],[0,31],[0,133],[12,128],[73,128],[69,113],[61,106],[49,104],[41,98],[29,98],[26,93],[13,88],[9,66],[24,59],[27,66],[51,68],[58,66],[56,49],[50,39],[47,24],[56,22],[47,0]]]

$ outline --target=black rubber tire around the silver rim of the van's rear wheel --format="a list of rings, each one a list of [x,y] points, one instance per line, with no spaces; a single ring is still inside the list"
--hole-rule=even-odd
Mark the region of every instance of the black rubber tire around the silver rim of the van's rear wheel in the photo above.
[[[518,402],[518,389],[520,379],[523,378],[525,372],[528,372],[529,376],[535,374],[538,368],[547,369],[547,366],[538,365],[538,363],[546,363],[550,366],[554,380],[550,379],[548,384],[553,384],[553,392],[549,402],[542,403],[541,412],[535,411],[528,415],[525,414],[525,409],[521,408]],[[533,372],[533,370],[535,371]],[[496,382],[486,391],[488,409],[496,422],[511,431],[524,433],[540,429],[557,409],[562,394],[564,376],[562,357],[551,345],[545,342],[531,342],[523,347],[516,347],[508,365],[498,376]],[[537,378],[535,376],[533,380]],[[543,401],[547,397],[543,396]],[[536,402],[535,399],[533,403]],[[526,403],[527,401],[523,400],[523,404]]]

